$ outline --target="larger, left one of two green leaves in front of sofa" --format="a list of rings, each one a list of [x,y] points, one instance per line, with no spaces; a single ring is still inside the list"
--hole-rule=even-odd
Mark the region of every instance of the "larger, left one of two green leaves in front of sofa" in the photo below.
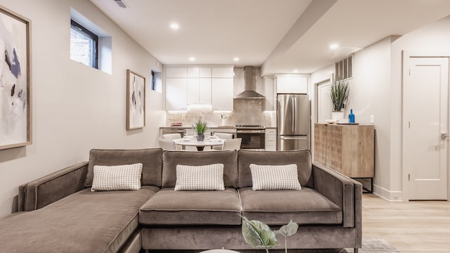
[[[245,242],[252,247],[275,247],[278,242],[276,241],[276,235],[266,223],[262,221],[249,221],[247,217],[241,216],[242,223],[242,235]]]

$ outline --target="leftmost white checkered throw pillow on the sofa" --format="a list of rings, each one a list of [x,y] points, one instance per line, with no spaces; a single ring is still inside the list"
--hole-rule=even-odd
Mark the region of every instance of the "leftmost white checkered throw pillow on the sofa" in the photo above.
[[[142,164],[94,166],[91,191],[141,189]]]

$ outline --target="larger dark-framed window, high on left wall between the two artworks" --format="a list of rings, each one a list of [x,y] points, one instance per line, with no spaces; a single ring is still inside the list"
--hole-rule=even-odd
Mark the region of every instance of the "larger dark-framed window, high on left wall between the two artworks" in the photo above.
[[[70,20],[70,59],[98,68],[98,36]]]

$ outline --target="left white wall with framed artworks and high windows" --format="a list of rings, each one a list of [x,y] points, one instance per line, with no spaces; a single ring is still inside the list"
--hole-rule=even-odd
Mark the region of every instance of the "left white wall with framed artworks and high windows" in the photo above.
[[[89,0],[0,0],[32,22],[32,145],[0,150],[0,217],[18,186],[89,159],[91,148],[155,148],[164,124],[162,94],[150,90],[158,60]],[[70,60],[70,7],[112,36],[113,73]],[[126,73],[147,80],[146,127],[125,129]]]

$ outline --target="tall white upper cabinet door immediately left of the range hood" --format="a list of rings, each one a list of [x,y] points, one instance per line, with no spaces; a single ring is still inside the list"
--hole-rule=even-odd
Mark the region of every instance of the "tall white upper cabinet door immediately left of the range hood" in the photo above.
[[[233,78],[212,78],[212,110],[233,110]]]

